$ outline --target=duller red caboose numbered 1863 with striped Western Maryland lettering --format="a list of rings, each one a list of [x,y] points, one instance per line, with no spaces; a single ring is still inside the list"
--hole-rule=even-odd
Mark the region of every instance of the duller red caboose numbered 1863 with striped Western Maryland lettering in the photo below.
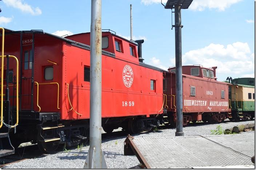
[[[183,125],[189,122],[221,122],[228,118],[228,84],[217,81],[216,68],[200,65],[183,66]],[[176,122],[176,81],[175,67],[164,73],[163,90],[168,114],[168,122]]]

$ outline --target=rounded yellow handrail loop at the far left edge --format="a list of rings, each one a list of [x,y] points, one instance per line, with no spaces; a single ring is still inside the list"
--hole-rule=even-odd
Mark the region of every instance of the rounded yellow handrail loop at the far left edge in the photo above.
[[[0,56],[2,57],[2,56]],[[6,57],[6,56],[4,56]],[[2,59],[4,58],[2,57]],[[18,123],[19,123],[19,60],[17,57],[15,56],[9,56],[11,58],[14,58],[16,60],[16,75],[17,75],[17,80],[16,80],[16,124],[15,125],[11,125],[10,128],[15,128]],[[3,74],[2,74],[3,76]],[[0,124],[0,128],[3,126],[3,82],[4,81],[1,81],[1,124]]]

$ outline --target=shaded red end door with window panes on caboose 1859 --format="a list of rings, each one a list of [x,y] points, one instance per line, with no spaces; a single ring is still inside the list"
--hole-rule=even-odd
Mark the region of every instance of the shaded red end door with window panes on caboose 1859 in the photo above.
[[[21,110],[32,110],[33,50],[32,38],[23,37],[23,58],[21,59]]]

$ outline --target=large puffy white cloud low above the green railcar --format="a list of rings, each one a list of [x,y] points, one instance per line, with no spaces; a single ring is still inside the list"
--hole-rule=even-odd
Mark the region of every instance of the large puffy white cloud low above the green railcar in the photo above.
[[[217,66],[217,77],[254,77],[254,53],[247,43],[210,44],[204,48],[191,50],[183,55],[183,65],[200,64],[211,68]]]

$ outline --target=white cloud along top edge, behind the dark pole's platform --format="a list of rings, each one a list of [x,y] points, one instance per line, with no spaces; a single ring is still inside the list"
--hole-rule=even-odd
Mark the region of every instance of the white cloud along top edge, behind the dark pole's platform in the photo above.
[[[217,9],[218,11],[225,11],[232,4],[238,3],[242,0],[193,0],[189,9],[193,11],[204,11],[205,8]],[[163,4],[167,0],[162,0]],[[144,5],[151,5],[154,3],[161,3],[161,0],[141,0]]]

